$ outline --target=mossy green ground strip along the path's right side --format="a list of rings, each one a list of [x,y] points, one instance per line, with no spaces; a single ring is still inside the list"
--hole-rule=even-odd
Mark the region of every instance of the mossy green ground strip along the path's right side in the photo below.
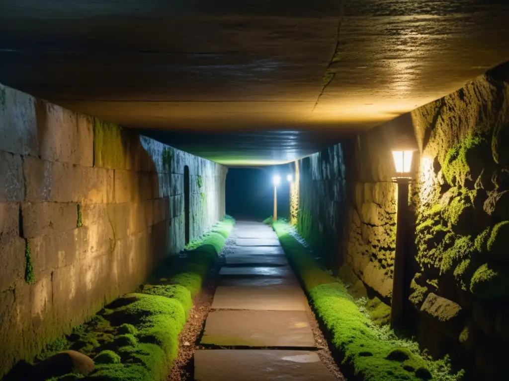
[[[290,232],[288,224],[277,221],[273,228],[319,319],[342,358],[343,370],[366,381],[434,379],[454,381],[445,360],[432,361],[418,345],[379,327],[365,313],[366,301],[355,301],[345,285],[321,268],[310,252]]]

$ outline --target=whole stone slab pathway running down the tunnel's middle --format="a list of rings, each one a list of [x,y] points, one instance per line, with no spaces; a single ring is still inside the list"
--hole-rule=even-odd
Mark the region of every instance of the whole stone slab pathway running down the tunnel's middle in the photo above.
[[[336,379],[313,351],[309,306],[275,233],[238,221],[233,236],[200,342],[205,349],[194,354],[194,379]]]

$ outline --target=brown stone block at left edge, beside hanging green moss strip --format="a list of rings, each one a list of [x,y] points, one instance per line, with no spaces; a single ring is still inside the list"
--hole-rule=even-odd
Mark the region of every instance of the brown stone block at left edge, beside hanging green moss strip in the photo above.
[[[0,241],[0,292],[24,281],[25,240],[19,237]],[[4,308],[4,307],[2,307]],[[0,308],[1,309],[1,308]]]

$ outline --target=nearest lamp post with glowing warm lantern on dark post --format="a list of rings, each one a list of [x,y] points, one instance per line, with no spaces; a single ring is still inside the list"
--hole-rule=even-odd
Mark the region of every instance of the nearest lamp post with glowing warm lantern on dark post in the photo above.
[[[390,326],[402,328],[404,325],[404,311],[406,306],[406,270],[408,251],[408,227],[410,225],[408,208],[408,189],[412,169],[413,150],[393,150],[396,176],[392,180],[398,185],[398,211],[396,221],[396,248],[394,255],[394,269],[392,276],[392,302]]]

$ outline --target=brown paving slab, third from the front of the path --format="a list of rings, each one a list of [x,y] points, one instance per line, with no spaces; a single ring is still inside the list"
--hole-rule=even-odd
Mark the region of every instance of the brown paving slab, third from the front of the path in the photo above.
[[[298,285],[219,286],[212,302],[212,309],[305,311],[307,308],[307,301]]]

